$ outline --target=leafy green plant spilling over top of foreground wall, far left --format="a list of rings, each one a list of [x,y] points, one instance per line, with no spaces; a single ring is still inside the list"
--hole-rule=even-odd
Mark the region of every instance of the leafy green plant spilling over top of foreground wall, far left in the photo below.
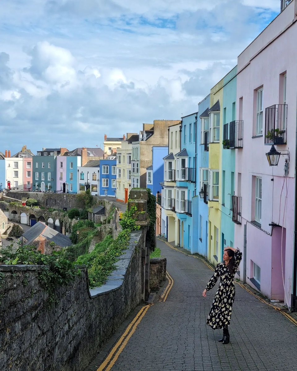
[[[1,251],[0,264],[38,264],[46,266],[38,273],[38,279],[45,291],[49,294],[49,304],[55,302],[55,288],[57,285],[68,285],[78,275],[73,262],[66,259],[65,250],[53,251],[51,255],[43,255],[35,246],[19,247],[16,251]]]

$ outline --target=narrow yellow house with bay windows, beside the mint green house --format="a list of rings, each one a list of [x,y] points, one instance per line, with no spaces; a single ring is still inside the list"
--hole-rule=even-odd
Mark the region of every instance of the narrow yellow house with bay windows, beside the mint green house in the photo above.
[[[222,260],[221,249],[221,179],[223,133],[222,122],[223,79],[210,90],[209,109],[209,189],[208,189],[208,257],[212,264]]]

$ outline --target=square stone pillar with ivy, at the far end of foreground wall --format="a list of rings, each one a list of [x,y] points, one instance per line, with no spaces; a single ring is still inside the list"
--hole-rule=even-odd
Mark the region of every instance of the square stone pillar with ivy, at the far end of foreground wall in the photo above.
[[[150,295],[150,247],[146,244],[147,233],[147,190],[132,189],[129,194],[128,210],[136,206],[137,211],[134,217],[137,217],[137,222],[143,232],[144,244],[141,250],[142,259],[142,285],[143,285],[143,300],[147,300]]]

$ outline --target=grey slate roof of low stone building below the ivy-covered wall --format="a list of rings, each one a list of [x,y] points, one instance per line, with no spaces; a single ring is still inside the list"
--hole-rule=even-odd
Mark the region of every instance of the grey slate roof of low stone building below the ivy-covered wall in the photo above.
[[[41,221],[38,221],[33,227],[23,234],[23,237],[28,241],[26,245],[32,243],[38,236],[43,236],[49,241],[55,242],[61,247],[70,246],[72,244],[70,238],[64,234],[46,226]]]

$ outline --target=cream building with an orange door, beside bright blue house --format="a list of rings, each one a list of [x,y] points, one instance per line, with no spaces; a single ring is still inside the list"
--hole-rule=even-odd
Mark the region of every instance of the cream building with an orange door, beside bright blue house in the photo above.
[[[131,188],[131,154],[132,142],[138,141],[138,134],[127,133],[127,139],[117,150],[117,193],[118,201],[128,202]]]

